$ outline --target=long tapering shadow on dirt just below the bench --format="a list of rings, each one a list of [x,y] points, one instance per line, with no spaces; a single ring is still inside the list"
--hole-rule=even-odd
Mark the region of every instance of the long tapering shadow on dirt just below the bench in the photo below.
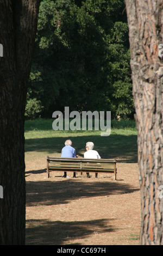
[[[26,205],[67,204],[79,198],[109,196],[110,194],[132,193],[139,190],[128,184],[115,182],[82,182],[74,179],[60,181],[27,181]]]

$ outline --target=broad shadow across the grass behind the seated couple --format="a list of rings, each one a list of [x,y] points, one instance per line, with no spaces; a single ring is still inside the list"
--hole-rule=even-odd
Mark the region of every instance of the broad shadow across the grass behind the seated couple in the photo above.
[[[68,137],[72,140],[73,147],[76,149],[79,157],[83,157],[85,144],[92,141],[95,144],[95,150],[103,159],[117,159],[121,162],[137,162],[137,136],[136,135],[110,135],[102,136],[77,136]],[[45,153],[46,155],[60,156],[61,149],[64,147],[65,137],[48,137],[26,139],[25,151],[36,153]],[[45,156],[46,157],[46,156]]]

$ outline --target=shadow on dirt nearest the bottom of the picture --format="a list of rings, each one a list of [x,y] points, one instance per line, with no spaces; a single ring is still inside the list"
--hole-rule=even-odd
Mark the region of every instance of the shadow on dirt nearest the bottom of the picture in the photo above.
[[[91,234],[114,232],[108,225],[112,220],[93,221],[48,221],[28,220],[26,222],[26,245],[80,245],[78,239],[85,239]],[[71,240],[77,242],[71,243]]]

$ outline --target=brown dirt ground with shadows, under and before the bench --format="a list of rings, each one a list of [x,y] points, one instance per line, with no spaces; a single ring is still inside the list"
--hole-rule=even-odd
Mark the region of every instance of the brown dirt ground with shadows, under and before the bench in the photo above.
[[[46,156],[26,161],[26,245],[140,245],[137,163],[114,174],[46,173]]]

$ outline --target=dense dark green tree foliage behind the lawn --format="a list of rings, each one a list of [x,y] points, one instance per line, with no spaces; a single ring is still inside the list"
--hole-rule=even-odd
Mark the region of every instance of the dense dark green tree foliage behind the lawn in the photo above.
[[[56,110],[111,111],[133,118],[123,0],[42,0],[26,117]]]

